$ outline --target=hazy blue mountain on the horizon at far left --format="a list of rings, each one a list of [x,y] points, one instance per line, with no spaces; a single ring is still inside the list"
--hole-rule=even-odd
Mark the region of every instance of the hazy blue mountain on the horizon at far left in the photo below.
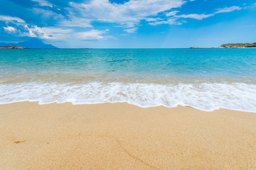
[[[10,42],[10,43],[0,42],[0,46],[20,46],[25,48],[58,48],[51,44],[45,44],[38,39],[32,39],[32,40],[27,40],[27,41],[22,41],[17,43],[16,42]]]

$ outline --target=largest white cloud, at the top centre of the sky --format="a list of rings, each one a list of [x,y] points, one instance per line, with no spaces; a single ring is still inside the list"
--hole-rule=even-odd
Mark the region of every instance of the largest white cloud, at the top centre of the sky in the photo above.
[[[70,3],[70,13],[76,13],[90,21],[118,23],[132,28],[149,16],[181,7],[183,0],[130,0],[124,4],[111,4],[109,0],[91,0],[83,3]]]

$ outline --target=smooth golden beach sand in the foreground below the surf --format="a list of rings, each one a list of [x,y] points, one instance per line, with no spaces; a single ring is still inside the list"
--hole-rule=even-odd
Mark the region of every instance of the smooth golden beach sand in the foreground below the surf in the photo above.
[[[0,105],[0,169],[256,169],[256,113]]]

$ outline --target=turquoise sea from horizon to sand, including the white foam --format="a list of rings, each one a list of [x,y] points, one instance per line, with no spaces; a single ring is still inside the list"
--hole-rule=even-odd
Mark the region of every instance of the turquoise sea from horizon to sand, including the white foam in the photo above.
[[[0,104],[20,101],[256,113],[256,49],[2,49]]]

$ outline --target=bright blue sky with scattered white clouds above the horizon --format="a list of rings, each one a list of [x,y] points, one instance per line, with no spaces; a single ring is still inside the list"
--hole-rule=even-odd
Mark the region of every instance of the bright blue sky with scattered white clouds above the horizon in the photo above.
[[[1,0],[0,42],[60,48],[256,42],[256,0]]]

